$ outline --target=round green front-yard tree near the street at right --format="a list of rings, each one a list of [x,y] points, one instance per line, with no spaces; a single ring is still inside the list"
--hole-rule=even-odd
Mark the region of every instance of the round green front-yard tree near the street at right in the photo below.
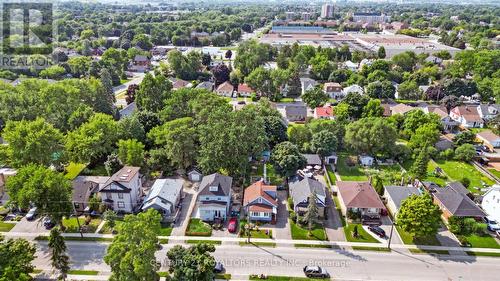
[[[441,211],[429,194],[411,195],[401,203],[396,224],[414,237],[432,236],[441,225]]]

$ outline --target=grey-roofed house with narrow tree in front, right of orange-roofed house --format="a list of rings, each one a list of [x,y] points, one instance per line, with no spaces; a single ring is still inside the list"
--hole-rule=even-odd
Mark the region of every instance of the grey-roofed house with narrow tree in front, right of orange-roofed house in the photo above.
[[[319,216],[324,217],[326,208],[326,190],[325,186],[311,178],[304,178],[301,181],[295,181],[289,184],[290,197],[293,201],[293,211],[303,215],[309,205],[309,197],[312,193],[316,194],[316,206],[319,210]]]

